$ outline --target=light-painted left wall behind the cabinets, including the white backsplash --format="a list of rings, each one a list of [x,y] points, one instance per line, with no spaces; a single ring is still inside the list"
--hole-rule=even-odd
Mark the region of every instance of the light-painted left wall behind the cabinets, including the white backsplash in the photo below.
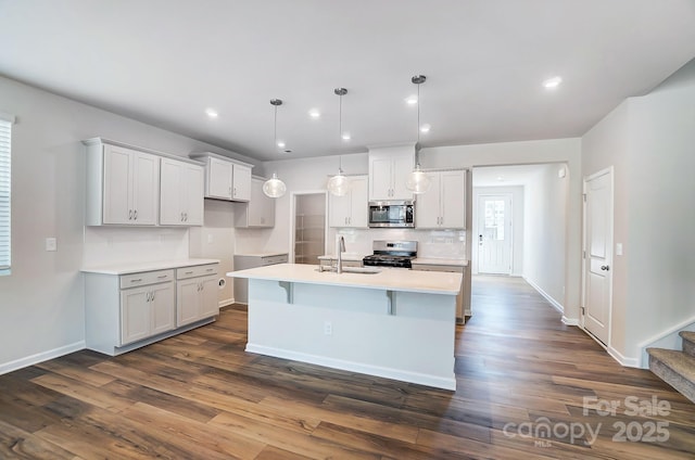
[[[194,151],[232,154],[2,77],[0,111],[16,116],[12,137],[13,265],[11,276],[0,277],[2,373],[81,348],[85,322],[79,269],[85,260],[96,261],[97,254],[104,259],[165,257],[169,250],[176,255],[188,254],[185,230],[85,231],[81,140],[104,137],[181,156]],[[47,237],[58,239],[56,252],[43,250]]]

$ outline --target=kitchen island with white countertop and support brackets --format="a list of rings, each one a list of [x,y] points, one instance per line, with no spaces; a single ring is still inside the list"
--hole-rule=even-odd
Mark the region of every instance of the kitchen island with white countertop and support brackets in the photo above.
[[[460,273],[319,271],[280,264],[249,279],[247,352],[456,389]]]

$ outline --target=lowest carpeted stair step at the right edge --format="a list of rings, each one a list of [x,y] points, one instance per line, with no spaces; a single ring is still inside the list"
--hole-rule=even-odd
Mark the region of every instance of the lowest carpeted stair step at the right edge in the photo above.
[[[675,349],[647,348],[649,370],[695,403],[695,356]]]

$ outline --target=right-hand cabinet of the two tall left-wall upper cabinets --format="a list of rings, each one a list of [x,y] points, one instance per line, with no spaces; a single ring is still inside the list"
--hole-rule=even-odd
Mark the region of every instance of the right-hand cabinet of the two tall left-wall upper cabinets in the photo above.
[[[161,164],[160,225],[203,225],[203,167],[173,158]]]

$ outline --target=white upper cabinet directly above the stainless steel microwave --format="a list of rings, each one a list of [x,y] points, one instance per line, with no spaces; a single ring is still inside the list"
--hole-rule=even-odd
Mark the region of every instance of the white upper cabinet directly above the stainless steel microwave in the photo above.
[[[369,150],[369,200],[413,200],[405,180],[414,162],[413,145]]]

